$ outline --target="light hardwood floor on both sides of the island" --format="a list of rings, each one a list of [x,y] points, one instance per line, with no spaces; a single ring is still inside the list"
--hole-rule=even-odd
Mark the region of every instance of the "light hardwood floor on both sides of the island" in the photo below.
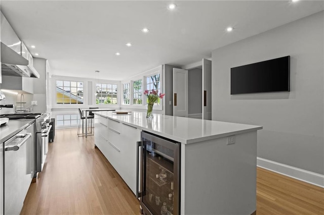
[[[139,201],[94,148],[94,136],[56,130],[21,214],[140,214]],[[257,214],[324,214],[324,189],[257,169]]]

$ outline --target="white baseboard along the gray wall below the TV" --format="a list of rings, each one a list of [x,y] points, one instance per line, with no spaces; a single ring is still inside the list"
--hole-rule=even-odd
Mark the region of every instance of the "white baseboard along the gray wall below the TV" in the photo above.
[[[273,162],[272,160],[257,157],[257,166],[272,172],[279,173],[309,184],[324,188],[324,175],[307,170]]]

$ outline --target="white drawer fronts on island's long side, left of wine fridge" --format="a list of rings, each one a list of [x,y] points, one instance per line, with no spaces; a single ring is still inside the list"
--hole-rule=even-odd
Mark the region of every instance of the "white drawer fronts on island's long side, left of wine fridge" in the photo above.
[[[95,118],[95,145],[135,194],[136,141],[141,139],[140,129],[96,114]]]

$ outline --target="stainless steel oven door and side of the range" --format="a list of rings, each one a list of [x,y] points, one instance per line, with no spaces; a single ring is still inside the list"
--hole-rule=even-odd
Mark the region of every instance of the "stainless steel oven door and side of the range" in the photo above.
[[[42,172],[45,159],[48,153],[49,146],[49,134],[51,131],[52,125],[48,126],[46,129],[43,129],[42,132],[36,134],[36,172]]]

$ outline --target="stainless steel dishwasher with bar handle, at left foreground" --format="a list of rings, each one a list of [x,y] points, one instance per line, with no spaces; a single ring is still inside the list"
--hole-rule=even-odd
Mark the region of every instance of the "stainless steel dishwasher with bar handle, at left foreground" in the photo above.
[[[4,142],[5,214],[20,214],[34,176],[34,123]]]

